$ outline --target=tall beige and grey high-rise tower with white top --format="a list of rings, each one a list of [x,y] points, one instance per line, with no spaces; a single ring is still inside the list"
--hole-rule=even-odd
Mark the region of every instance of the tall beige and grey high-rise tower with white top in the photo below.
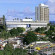
[[[40,4],[35,7],[35,20],[49,22],[49,7],[44,4]]]

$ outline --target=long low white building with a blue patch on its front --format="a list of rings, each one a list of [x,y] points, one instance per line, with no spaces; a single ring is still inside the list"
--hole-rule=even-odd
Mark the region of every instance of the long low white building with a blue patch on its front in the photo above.
[[[24,27],[25,29],[31,28],[35,29],[38,27],[46,27],[47,22],[35,22],[35,21],[6,21],[7,30],[11,30],[12,28]]]

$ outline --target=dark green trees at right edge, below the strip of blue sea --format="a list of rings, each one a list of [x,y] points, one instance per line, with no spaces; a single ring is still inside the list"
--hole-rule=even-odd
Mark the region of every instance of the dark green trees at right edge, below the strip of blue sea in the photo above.
[[[48,36],[48,40],[55,41],[55,24],[50,24],[49,26],[50,28],[45,34]]]

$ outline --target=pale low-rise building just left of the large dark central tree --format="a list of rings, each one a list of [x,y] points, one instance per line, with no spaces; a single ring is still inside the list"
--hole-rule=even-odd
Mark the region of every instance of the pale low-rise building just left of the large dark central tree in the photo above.
[[[20,48],[20,46],[23,44],[23,37],[9,38],[8,42],[13,45],[14,49]]]

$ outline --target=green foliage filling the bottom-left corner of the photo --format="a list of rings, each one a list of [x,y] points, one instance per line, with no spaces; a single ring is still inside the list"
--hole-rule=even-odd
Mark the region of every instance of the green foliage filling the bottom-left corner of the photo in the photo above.
[[[11,44],[7,44],[4,50],[0,50],[0,55],[27,55],[27,51],[23,49],[13,49]]]

